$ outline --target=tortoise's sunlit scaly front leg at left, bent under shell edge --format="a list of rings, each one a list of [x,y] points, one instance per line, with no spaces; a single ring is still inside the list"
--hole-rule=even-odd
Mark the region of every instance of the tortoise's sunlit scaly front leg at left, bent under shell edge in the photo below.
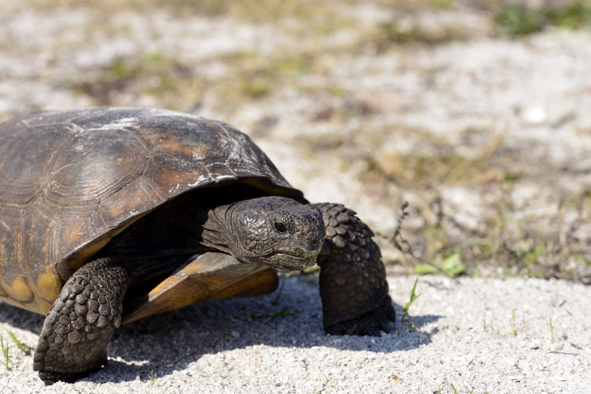
[[[126,270],[109,258],[83,265],[68,279],[47,314],[33,359],[46,385],[73,382],[106,362],[128,286]]]

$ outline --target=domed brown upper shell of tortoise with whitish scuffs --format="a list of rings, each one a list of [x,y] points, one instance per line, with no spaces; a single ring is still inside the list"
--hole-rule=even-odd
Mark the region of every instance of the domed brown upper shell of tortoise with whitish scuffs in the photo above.
[[[129,224],[190,190],[233,183],[307,202],[248,136],[200,116],[95,108],[1,123],[0,299],[45,314]]]

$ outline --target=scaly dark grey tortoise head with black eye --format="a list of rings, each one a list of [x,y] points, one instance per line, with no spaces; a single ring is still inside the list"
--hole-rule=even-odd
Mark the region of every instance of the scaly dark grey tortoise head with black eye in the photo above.
[[[236,259],[282,272],[316,263],[325,236],[316,207],[291,198],[259,197],[239,201],[230,214]]]

